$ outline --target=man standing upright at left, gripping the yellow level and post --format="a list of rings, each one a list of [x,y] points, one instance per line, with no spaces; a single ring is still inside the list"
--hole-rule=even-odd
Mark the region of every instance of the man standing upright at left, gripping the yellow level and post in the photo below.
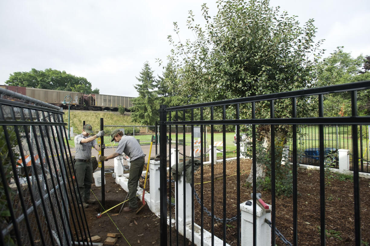
[[[95,139],[104,136],[104,131],[99,131],[94,136],[90,136],[90,133],[92,133],[92,126],[85,124],[82,133],[74,137],[74,146],[76,148],[74,169],[82,200],[80,201],[80,206],[84,208],[87,208],[88,204],[95,202],[95,200],[90,199],[90,188],[92,184],[91,148],[94,147],[95,150],[99,150]],[[104,148],[104,144],[101,147]]]

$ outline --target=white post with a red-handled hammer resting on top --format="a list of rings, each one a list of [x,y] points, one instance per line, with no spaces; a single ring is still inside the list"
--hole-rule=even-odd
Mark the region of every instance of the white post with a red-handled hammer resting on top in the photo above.
[[[253,200],[249,200],[253,202]],[[269,204],[268,204],[269,205]],[[271,208],[271,205],[269,205]],[[253,204],[248,206],[243,202],[240,204],[242,211],[242,245],[253,245]],[[262,208],[256,204],[256,245],[271,245],[271,228],[265,222],[265,218],[271,221],[271,213],[263,212]]]

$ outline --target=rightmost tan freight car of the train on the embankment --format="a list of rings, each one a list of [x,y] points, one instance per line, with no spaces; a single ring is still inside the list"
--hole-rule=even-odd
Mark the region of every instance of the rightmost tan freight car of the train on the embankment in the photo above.
[[[127,96],[112,96],[102,94],[88,95],[89,110],[113,110],[117,111],[119,106],[129,109],[132,107],[132,99]]]

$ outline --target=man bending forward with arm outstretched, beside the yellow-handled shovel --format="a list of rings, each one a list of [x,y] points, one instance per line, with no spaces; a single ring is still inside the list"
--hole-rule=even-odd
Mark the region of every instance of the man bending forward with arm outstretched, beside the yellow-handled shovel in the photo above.
[[[112,141],[118,142],[118,147],[114,153],[109,156],[101,156],[99,161],[106,161],[125,153],[130,157],[130,171],[128,176],[128,199],[129,205],[124,208],[125,213],[136,211],[138,208],[138,202],[136,198],[137,186],[139,178],[141,177],[142,170],[145,163],[145,154],[138,141],[132,137],[124,135],[120,129],[115,129],[111,133]]]

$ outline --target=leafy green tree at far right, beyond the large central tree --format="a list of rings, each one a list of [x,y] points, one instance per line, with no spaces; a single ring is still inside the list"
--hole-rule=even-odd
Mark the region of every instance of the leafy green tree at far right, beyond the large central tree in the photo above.
[[[343,47],[337,49],[320,62],[317,69],[317,86],[338,85],[357,81],[370,80],[370,72],[366,69],[369,60],[359,55],[352,58],[350,53],[344,52]],[[358,93],[359,115],[369,115],[369,91],[361,90]],[[324,111],[326,116],[350,116],[351,95],[347,92],[324,96]]]

